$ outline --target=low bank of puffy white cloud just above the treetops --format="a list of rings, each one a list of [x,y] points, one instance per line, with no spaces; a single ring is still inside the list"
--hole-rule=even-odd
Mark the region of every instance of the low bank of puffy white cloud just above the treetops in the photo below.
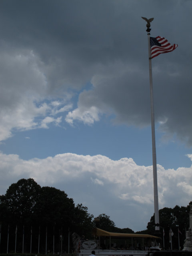
[[[125,210],[129,218],[132,215],[133,226],[143,226],[143,222],[147,225],[154,211],[152,166],[138,166],[132,158],[114,161],[102,155],[66,153],[22,160],[18,155],[0,153],[0,172],[1,194],[20,178],[34,178],[41,186],[64,190],[76,203],[84,202],[94,215],[110,211],[117,226],[123,226],[118,216],[125,218]],[[188,205],[191,172],[192,167],[165,170],[158,165],[159,208]],[[109,202],[118,205],[118,209],[112,211]],[[140,220],[134,218],[138,208],[144,213]]]

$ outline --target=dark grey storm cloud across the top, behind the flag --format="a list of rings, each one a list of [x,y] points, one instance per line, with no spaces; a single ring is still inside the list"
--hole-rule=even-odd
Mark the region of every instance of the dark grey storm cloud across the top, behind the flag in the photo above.
[[[45,94],[92,80],[79,111],[97,107],[114,122],[150,124],[146,22],[152,36],[179,47],[152,61],[155,118],[160,129],[192,144],[190,1],[66,0],[0,2],[1,52],[33,51],[47,82]],[[19,74],[18,74],[19,75]],[[95,109],[94,109],[95,111]]]

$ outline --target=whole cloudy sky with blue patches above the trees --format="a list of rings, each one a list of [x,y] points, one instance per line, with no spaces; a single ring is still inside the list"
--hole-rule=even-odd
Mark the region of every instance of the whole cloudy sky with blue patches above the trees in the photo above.
[[[166,4],[164,4],[166,3]],[[154,213],[146,18],[178,44],[152,59],[159,208],[192,200],[192,1],[0,1],[0,194],[20,178],[94,217]]]

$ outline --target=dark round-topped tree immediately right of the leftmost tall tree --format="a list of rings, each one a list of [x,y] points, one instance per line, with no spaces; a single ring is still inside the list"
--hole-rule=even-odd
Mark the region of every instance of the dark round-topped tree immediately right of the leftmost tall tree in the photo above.
[[[68,198],[64,191],[53,187],[42,187],[39,200],[34,209],[33,227],[42,237],[47,237],[49,250],[53,250],[53,234],[55,237],[55,249],[61,250],[61,242],[68,241],[68,231],[74,218],[74,201]],[[62,236],[62,238],[61,238]],[[61,240],[62,239],[62,240]],[[36,243],[38,244],[38,243]],[[44,244],[45,250],[45,241]],[[68,244],[63,243],[62,248],[68,250]]]

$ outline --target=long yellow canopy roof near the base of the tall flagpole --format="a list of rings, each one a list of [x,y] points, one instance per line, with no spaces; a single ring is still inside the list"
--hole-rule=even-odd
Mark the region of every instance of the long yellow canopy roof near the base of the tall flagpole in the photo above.
[[[94,236],[109,236],[109,237],[118,237],[118,238],[126,238],[126,237],[134,237],[134,238],[159,238],[158,236],[152,236],[147,234],[127,234],[127,233],[114,233],[102,230],[100,228],[94,228],[92,230],[92,235]]]

